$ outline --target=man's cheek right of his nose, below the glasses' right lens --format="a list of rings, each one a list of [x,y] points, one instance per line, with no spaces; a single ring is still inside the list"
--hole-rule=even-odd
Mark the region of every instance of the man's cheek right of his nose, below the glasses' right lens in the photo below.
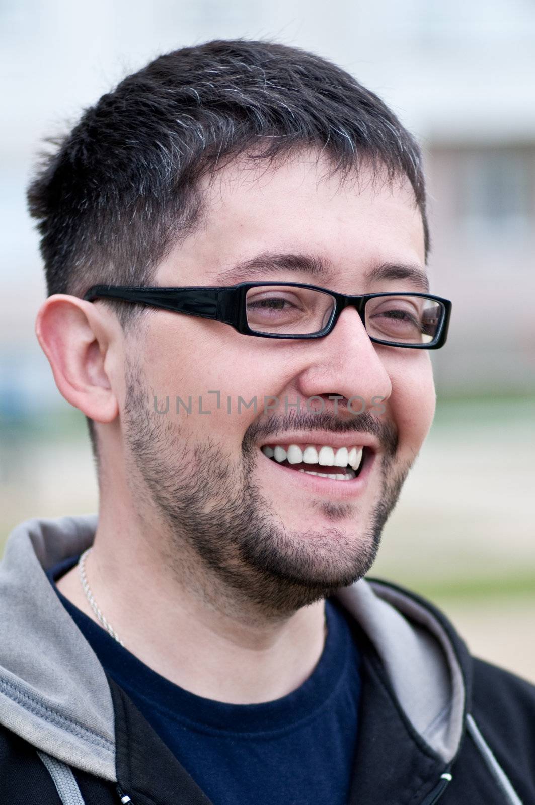
[[[400,436],[400,452],[413,456],[429,432],[435,411],[436,394],[429,354],[422,350],[396,365],[389,374],[392,417]]]

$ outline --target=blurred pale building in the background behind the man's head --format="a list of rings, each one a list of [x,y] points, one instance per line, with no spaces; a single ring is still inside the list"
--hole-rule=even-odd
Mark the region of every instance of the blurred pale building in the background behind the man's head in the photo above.
[[[39,140],[160,52],[239,36],[331,58],[422,142],[432,287],[454,301],[450,342],[433,356],[442,394],[535,388],[533,2],[8,0],[0,26],[0,413],[59,399],[33,335],[44,281],[24,190]]]

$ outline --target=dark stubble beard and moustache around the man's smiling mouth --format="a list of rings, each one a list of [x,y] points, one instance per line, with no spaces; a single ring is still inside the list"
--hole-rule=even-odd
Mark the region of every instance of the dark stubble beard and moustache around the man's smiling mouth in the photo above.
[[[254,481],[259,431],[275,432],[284,426],[280,419],[247,428],[242,455],[232,460],[213,436],[196,443],[190,435],[183,436],[176,418],[151,408],[153,395],[139,365],[127,369],[126,475],[133,493],[139,500],[147,499],[158,521],[164,523],[165,561],[180,583],[201,590],[206,601],[219,591],[227,601],[252,606],[265,617],[280,617],[330,597],[366,575],[411,466],[396,467],[397,438],[392,427],[385,430],[367,412],[354,418],[359,419],[358,425],[350,426],[379,430],[387,448],[379,466],[378,501],[371,511],[362,513],[350,504],[317,503],[333,525],[292,531],[280,525]],[[338,427],[346,429],[348,420],[336,419]],[[332,415],[317,416],[309,427],[336,429],[336,423]],[[139,481],[143,489],[137,486]],[[350,522],[350,514],[367,519],[362,534],[334,525]]]

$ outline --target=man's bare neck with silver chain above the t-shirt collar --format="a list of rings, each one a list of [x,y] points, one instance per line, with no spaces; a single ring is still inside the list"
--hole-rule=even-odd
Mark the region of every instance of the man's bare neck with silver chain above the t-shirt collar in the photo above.
[[[238,601],[218,580],[198,568],[193,572],[191,556],[174,555],[171,563],[189,568],[187,573],[177,578],[169,572],[164,537],[126,512],[99,514],[86,578],[126,649],[185,690],[229,704],[275,700],[300,687],[323,650],[324,602],[268,617]],[[98,622],[78,568],[57,586]]]

